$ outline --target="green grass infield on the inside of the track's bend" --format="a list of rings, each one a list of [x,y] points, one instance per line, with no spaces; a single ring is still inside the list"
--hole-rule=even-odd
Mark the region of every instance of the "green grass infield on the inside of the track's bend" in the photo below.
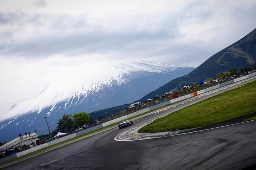
[[[159,118],[141,128],[153,133],[203,127],[256,112],[256,81]]]

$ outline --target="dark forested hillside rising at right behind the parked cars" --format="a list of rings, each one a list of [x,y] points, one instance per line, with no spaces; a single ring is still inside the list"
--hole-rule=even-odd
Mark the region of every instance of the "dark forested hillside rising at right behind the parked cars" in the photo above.
[[[203,62],[188,75],[173,79],[155,91],[152,91],[146,96],[142,97],[140,101],[152,99],[155,95],[161,95],[165,92],[171,91],[177,87],[178,84],[185,86],[188,84],[193,84],[197,81],[204,80],[206,78],[214,78],[216,74],[223,71],[230,71],[232,68],[238,68],[238,70],[240,68],[244,68],[244,66],[251,66],[254,68],[255,61],[256,29],[254,29],[252,32],[234,44],[226,47],[225,49],[208,58],[208,60]]]

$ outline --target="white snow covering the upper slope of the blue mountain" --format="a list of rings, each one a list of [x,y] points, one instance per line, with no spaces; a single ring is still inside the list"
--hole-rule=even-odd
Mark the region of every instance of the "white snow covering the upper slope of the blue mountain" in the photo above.
[[[76,105],[83,102],[92,92],[99,92],[103,86],[111,86],[113,80],[116,80],[119,86],[127,83],[129,81],[127,74],[132,72],[167,73],[167,71],[173,71],[177,68],[180,67],[157,62],[134,62],[129,65],[118,64],[117,66],[101,65],[93,70],[93,74],[82,73],[79,79],[73,79],[70,76],[48,83],[36,97],[13,105],[8,113],[2,115],[0,121],[28,112],[37,111],[39,114],[43,108],[49,106],[51,106],[51,112],[56,109],[56,104],[62,101],[65,101],[64,109],[67,109],[72,104]]]

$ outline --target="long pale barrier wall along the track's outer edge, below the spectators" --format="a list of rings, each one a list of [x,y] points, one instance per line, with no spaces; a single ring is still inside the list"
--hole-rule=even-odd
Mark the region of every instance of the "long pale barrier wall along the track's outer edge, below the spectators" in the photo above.
[[[163,102],[163,103],[161,103],[161,104],[154,105],[154,106],[152,106],[152,107],[144,108],[144,109],[139,110],[139,111],[137,111],[137,112],[130,113],[129,115],[125,115],[125,116],[122,116],[122,117],[119,117],[119,118],[116,118],[116,119],[107,121],[107,122],[105,122],[105,123],[99,124],[99,125],[97,125],[97,126],[93,126],[93,127],[88,128],[88,129],[86,129],[86,130],[79,131],[79,132],[76,132],[76,133],[73,133],[73,134],[69,134],[69,135],[64,136],[64,137],[62,137],[62,138],[55,139],[55,140],[53,140],[53,141],[47,142],[47,143],[45,143],[45,144],[41,144],[41,145],[36,146],[36,147],[33,147],[33,148],[31,148],[31,149],[27,149],[27,150],[25,150],[25,151],[18,152],[18,153],[15,154],[15,155],[10,155],[10,156],[8,156],[8,157],[4,157],[4,158],[0,159],[0,163],[5,162],[5,161],[7,161],[7,160],[11,160],[11,159],[17,158],[17,157],[21,157],[22,155],[26,155],[26,154],[29,154],[29,153],[34,152],[34,151],[38,151],[38,150],[43,149],[43,148],[45,148],[45,147],[48,147],[48,146],[57,144],[57,143],[59,143],[59,142],[66,141],[66,140],[71,139],[71,138],[74,138],[74,137],[76,137],[76,136],[80,136],[81,134],[85,134],[85,133],[88,133],[88,132],[97,130],[97,129],[99,129],[99,128],[106,127],[106,126],[111,125],[111,124],[113,124],[113,123],[117,123],[117,122],[119,122],[119,121],[126,120],[126,119],[128,119],[128,118],[134,117],[134,116],[139,115],[139,114],[141,114],[141,113],[144,113],[144,112],[147,112],[147,111],[150,111],[150,110],[154,110],[154,109],[156,109],[156,108],[163,107],[163,106],[165,106],[165,105],[172,104],[172,103],[175,103],[175,102],[184,100],[184,99],[188,99],[188,98],[190,98],[190,97],[197,96],[197,95],[199,95],[199,94],[202,94],[202,93],[205,93],[205,92],[208,92],[208,91],[212,91],[212,90],[218,89],[218,88],[220,88],[220,87],[227,86],[227,85],[229,85],[229,84],[232,84],[232,83],[235,83],[235,82],[238,82],[238,81],[247,79],[247,78],[251,78],[251,77],[253,77],[253,76],[256,76],[256,73],[248,74],[248,75],[246,75],[246,76],[243,76],[243,77],[240,77],[240,78],[237,78],[237,79],[233,79],[233,80],[230,80],[230,81],[228,81],[228,82],[225,82],[225,83],[222,83],[222,84],[218,84],[218,85],[209,87],[209,88],[207,88],[207,89],[203,89],[203,90],[194,92],[194,93],[192,93],[192,94],[187,94],[187,95],[185,95],[185,96],[178,97],[178,98],[176,98],[176,99],[168,100],[168,101],[166,101],[166,102]]]

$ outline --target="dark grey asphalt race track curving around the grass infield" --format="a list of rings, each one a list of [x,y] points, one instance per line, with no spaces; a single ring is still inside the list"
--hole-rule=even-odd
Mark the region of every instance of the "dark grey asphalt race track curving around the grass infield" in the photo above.
[[[248,79],[253,81],[255,78]],[[239,82],[238,82],[239,83]],[[244,83],[225,86],[216,94]],[[205,100],[207,92],[177,107],[134,121],[134,126]],[[193,99],[193,100],[192,100]],[[189,102],[187,102],[189,101]],[[131,126],[132,127],[132,126]],[[141,141],[115,141],[128,128],[114,128],[5,169],[244,169],[256,168],[256,121]]]

